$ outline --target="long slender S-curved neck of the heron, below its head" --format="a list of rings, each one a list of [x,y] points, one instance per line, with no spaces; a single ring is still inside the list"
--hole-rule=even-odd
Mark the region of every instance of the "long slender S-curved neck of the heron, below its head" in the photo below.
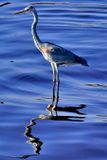
[[[34,40],[34,43],[36,45],[36,47],[41,50],[41,40],[39,39],[39,36],[36,32],[36,26],[37,26],[37,23],[38,23],[38,15],[35,12],[33,12],[33,16],[34,16],[34,20],[33,20],[33,23],[32,23],[32,36],[33,36],[33,40]]]

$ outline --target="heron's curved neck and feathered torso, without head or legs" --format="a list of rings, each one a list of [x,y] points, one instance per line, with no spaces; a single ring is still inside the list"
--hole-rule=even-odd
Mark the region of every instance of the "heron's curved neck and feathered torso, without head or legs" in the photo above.
[[[50,42],[42,42],[36,32],[38,15],[34,8],[33,8],[33,16],[34,16],[34,21],[32,23],[32,28],[31,28],[32,37],[36,47],[43,54],[43,57],[47,61],[49,61],[50,63],[56,63],[57,65],[62,65],[62,64],[71,65],[76,63],[87,65],[85,59],[75,55],[71,51],[68,51],[63,47]]]

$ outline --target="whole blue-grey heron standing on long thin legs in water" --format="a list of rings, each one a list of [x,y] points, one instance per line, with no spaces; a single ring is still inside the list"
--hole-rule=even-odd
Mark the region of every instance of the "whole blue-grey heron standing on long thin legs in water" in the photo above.
[[[86,59],[80,57],[73,52],[50,42],[43,42],[37,34],[38,13],[34,6],[30,5],[22,10],[15,12],[15,14],[22,14],[31,12],[34,19],[31,25],[31,33],[33,41],[37,49],[42,53],[45,60],[47,60],[52,67],[53,72],[53,87],[52,87],[52,102],[49,105],[52,110],[57,110],[59,101],[59,66],[81,64],[88,66]]]

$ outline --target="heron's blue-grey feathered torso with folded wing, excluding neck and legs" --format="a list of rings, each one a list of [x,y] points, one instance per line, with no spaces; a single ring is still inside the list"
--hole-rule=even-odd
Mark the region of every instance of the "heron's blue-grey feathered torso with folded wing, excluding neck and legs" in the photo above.
[[[49,42],[43,43],[42,45],[42,54],[50,63],[56,63],[57,65],[73,65],[77,63],[86,65],[83,62],[83,58],[60,46]]]

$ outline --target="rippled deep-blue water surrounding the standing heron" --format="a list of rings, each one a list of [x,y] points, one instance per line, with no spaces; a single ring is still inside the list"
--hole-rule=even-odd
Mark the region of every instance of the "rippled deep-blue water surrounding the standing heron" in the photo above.
[[[11,2],[0,8],[0,159],[106,160],[107,1],[36,5],[41,39],[90,65],[60,68],[58,117],[46,110],[52,73],[34,46],[33,17],[13,15],[35,1]]]

